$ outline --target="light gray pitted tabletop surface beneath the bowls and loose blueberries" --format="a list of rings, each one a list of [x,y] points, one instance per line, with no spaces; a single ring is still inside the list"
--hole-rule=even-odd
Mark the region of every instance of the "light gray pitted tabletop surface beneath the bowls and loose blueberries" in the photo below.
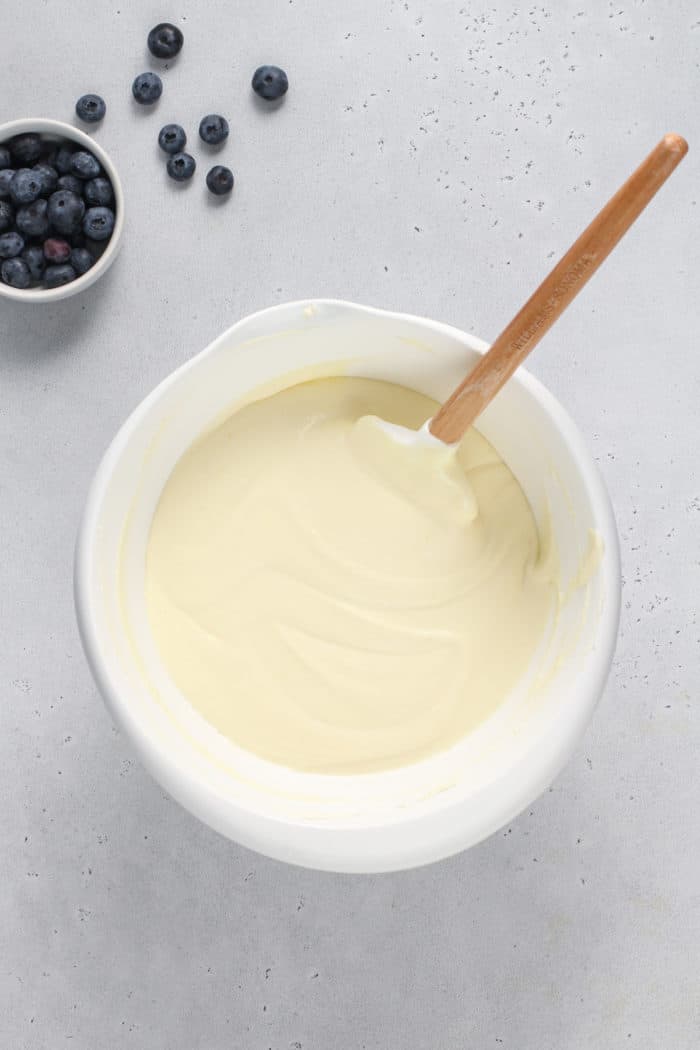
[[[121,6],[120,5],[121,2]],[[519,14],[518,14],[519,8]],[[0,303],[0,1046],[695,1050],[700,1042],[697,0],[2,0],[0,119],[70,120],[120,168],[124,249],[85,295]],[[186,45],[157,108],[148,28]],[[290,74],[282,108],[252,70]],[[224,112],[234,196],[155,136]],[[71,556],[115,428],[270,303],[328,295],[493,337],[666,130],[695,153],[532,360],[588,435],[623,617],[574,759],[511,827],[397,876],[216,836],[111,729]]]

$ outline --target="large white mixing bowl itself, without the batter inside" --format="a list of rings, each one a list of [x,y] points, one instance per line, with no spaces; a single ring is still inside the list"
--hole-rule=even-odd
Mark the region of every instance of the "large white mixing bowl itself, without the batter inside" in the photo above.
[[[620,573],[610,502],[561,406],[518,372],[479,426],[551,519],[561,575],[579,579],[553,635],[501,710],[450,751],[362,776],[303,774],[219,736],[168,678],[148,626],[145,551],[164,484],[194,438],[249,391],[287,374],[394,380],[444,398],[486,344],[436,321],[347,302],[292,302],[235,324],[135,410],[92,484],[76,600],[92,673],[163,786],[201,820],[281,860],[382,872],[438,860],[511,820],[556,776],[591,716],[615,647]],[[589,566],[594,562],[588,558]]]

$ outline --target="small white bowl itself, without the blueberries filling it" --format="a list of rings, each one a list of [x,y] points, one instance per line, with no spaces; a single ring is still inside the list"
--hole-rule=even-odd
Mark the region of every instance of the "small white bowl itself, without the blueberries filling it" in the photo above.
[[[17,134],[28,134],[35,132],[43,138],[68,139],[83,149],[89,149],[94,153],[102,165],[105,174],[112,184],[114,191],[114,229],[107,242],[105,250],[98,258],[94,266],[91,266],[82,277],[77,277],[68,285],[61,285],[59,288],[10,288],[0,280],[0,298],[17,299],[18,302],[56,302],[57,299],[67,299],[71,295],[83,292],[90,285],[93,285],[99,277],[105,273],[114,261],[116,253],[122,243],[122,231],[124,230],[124,192],[122,184],[116,173],[116,168],[93,139],[63,121],[42,120],[37,117],[25,117],[19,121],[9,121],[7,124],[0,124],[0,146]]]

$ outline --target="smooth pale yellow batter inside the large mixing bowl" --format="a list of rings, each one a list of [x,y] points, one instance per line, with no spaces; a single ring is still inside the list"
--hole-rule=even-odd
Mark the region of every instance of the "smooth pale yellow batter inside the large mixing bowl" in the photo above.
[[[302,383],[175,467],[148,545],[151,627],[175,685],[241,748],[334,774],[403,765],[525,673],[556,587],[508,467],[472,429],[442,482],[404,453],[394,484],[391,448],[368,453],[356,423],[418,427],[434,408],[375,380]]]

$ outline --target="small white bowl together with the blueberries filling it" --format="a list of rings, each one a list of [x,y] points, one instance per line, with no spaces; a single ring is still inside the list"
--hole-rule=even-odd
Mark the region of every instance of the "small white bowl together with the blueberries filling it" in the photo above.
[[[124,197],[108,154],[60,121],[0,125],[0,298],[50,302],[111,265]]]

